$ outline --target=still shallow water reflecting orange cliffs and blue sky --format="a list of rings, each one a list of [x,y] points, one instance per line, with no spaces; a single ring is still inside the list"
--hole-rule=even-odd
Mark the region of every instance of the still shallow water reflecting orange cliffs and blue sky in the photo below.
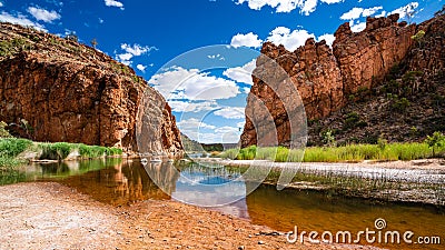
[[[218,184],[233,181],[240,173],[234,169],[202,168],[192,164],[172,171],[170,162],[148,163],[139,160],[107,159],[72,161],[68,163],[30,164],[17,181],[57,181],[77,189],[91,198],[112,206],[142,200],[167,200],[172,197],[195,196],[208,198],[198,183]],[[150,174],[148,174],[149,172]],[[162,190],[156,183],[161,183]],[[12,181],[13,182],[13,181]],[[195,182],[195,183],[196,183]],[[250,183],[234,182],[236,189]],[[199,186],[198,186],[199,187]],[[215,199],[215,198],[209,198]],[[439,236],[441,246],[383,244],[388,249],[445,249],[445,214],[433,206],[380,203],[364,199],[344,198],[328,193],[259,186],[245,199],[219,208],[210,208],[253,223],[268,226],[279,231],[350,231],[353,236],[366,228],[374,230],[377,218],[386,220],[388,230],[403,234],[411,230],[416,237]],[[363,242],[363,241],[362,241]],[[363,242],[365,243],[365,242]],[[378,244],[376,244],[378,246]]]

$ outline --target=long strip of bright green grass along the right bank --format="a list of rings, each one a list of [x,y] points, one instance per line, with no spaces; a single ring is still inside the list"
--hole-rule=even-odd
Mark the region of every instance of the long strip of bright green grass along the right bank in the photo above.
[[[237,160],[271,160],[276,162],[300,161],[301,150],[289,150],[284,147],[257,148],[255,146],[245,149],[229,149],[219,154],[221,158]],[[343,147],[310,147],[306,148],[304,162],[343,162],[363,160],[416,160],[445,156],[445,144],[433,148],[423,142],[379,144],[349,144]]]

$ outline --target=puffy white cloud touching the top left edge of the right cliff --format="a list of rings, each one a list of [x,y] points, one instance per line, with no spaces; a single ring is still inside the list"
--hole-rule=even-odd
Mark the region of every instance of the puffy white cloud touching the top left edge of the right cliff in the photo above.
[[[306,30],[293,30],[286,27],[275,28],[267,41],[271,41],[275,44],[283,44],[286,49],[294,51],[298,47],[304,46],[308,38],[314,38],[315,36],[307,32]]]

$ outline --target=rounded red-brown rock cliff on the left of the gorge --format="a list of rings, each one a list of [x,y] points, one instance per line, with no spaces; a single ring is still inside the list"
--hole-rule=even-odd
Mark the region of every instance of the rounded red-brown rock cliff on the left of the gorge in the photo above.
[[[0,120],[26,119],[37,141],[67,141],[137,151],[141,97],[156,146],[150,152],[180,153],[175,117],[165,99],[135,72],[75,41],[0,24]]]

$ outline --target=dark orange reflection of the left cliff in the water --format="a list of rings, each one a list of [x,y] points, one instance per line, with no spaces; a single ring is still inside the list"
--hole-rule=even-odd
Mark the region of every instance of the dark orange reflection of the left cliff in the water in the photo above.
[[[172,171],[172,168],[167,164],[171,163],[148,163],[146,166],[148,169],[156,169],[152,171],[156,172],[156,181],[166,187],[164,191],[167,190],[167,193],[150,179],[145,167],[137,159],[118,162],[81,176],[71,176],[61,182],[98,201],[113,206],[149,199],[170,199],[179,173]]]

